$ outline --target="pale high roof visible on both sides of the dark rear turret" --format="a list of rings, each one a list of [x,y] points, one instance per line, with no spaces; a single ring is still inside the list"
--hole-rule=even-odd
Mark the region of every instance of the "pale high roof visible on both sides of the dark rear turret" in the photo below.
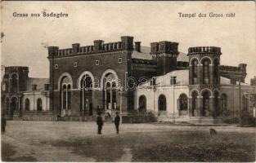
[[[152,56],[150,55],[150,47],[141,46],[141,52],[133,51],[132,59],[152,59]],[[177,61],[188,62],[188,57],[185,53],[179,52]]]

